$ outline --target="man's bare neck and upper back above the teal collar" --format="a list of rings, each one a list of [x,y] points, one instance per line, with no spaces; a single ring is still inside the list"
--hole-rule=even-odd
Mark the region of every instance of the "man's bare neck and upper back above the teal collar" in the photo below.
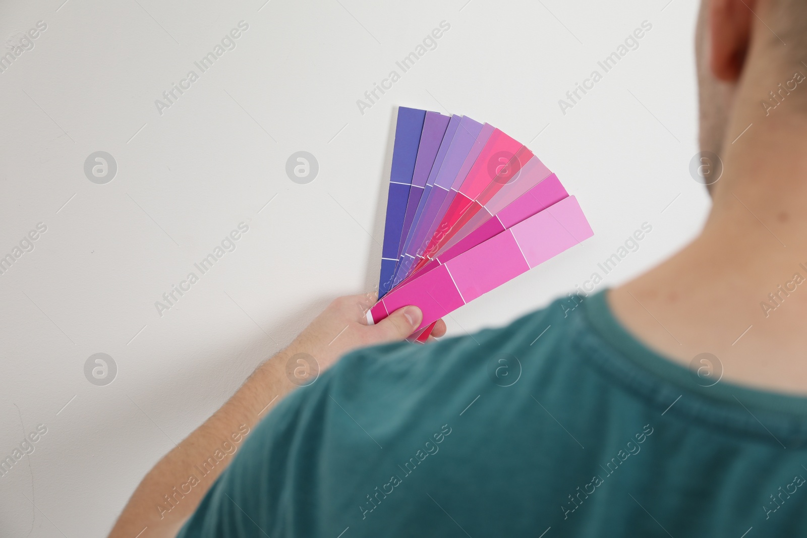
[[[807,82],[798,90],[805,92]],[[700,236],[613,290],[621,322],[689,365],[713,353],[727,382],[807,394],[807,115],[735,115]],[[790,112],[788,115],[787,113]],[[736,134],[734,135],[736,136]]]

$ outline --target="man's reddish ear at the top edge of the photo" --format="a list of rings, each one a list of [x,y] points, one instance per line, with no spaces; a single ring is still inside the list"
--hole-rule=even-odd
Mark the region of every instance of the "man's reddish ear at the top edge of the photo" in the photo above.
[[[756,0],[711,0],[709,6],[709,65],[718,80],[740,77],[751,47]]]

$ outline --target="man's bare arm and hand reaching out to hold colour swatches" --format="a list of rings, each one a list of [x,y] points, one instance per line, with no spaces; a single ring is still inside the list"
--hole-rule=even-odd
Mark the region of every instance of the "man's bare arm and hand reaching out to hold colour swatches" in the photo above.
[[[314,357],[321,372],[355,348],[403,340],[422,319],[419,308],[405,307],[380,323],[368,326],[365,314],[373,303],[374,296],[370,295],[337,298],[288,348],[258,366],[219,411],[149,471],[123,509],[110,538],[134,538],[144,529],[148,529],[144,538],[175,536],[182,523],[199,506],[215,478],[232,460],[230,454],[234,449],[225,454],[222,445],[228,443],[225,447],[233,447],[243,432],[251,430],[261,416],[296,388],[297,385],[286,375],[286,364],[292,357],[305,353],[308,357],[299,357],[305,362]],[[445,334],[445,323],[438,323],[432,334]],[[291,369],[297,367],[296,359],[292,359]],[[211,471],[201,482],[183,490],[182,486],[186,485],[190,475],[200,474],[194,467],[203,465],[217,451],[224,454],[224,458],[209,465]]]

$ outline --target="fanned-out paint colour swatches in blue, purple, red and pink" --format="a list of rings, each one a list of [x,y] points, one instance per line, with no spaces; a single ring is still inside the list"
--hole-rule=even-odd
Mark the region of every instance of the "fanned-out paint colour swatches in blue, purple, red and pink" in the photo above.
[[[416,305],[412,338],[424,341],[442,316],[592,235],[576,198],[524,144],[467,116],[401,106],[367,321]]]

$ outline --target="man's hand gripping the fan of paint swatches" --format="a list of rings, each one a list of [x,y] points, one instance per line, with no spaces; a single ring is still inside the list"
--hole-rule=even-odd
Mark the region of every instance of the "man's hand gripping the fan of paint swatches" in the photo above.
[[[375,325],[368,325],[367,311],[375,298],[376,294],[364,294],[335,299],[286,348],[286,357],[307,353],[316,359],[320,369],[326,369],[353,349],[403,340],[420,325],[423,314],[418,307],[399,308]],[[443,335],[445,322],[441,319],[429,340]]]

